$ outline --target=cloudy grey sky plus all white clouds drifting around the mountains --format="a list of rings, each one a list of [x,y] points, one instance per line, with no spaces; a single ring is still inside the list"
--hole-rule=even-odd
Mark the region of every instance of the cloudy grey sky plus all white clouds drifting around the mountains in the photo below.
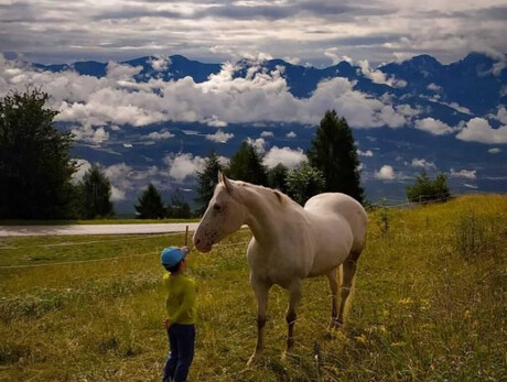
[[[402,99],[358,91],[342,77],[322,81],[309,98],[296,98],[289,91],[283,68],[266,73],[260,63],[283,58],[328,67],[347,61],[375,83],[404,87],[404,80],[387,78],[376,66],[419,54],[449,64],[478,51],[497,59],[501,70],[506,66],[506,21],[507,0],[0,0],[0,97],[28,86],[42,87],[51,95],[48,107],[58,111],[55,120],[71,124],[75,140],[96,150],[107,150],[127,123],[147,143],[173,139],[172,121],[205,123],[209,133],[198,139],[227,143],[234,138],[227,130],[230,123],[315,125],[326,110],[335,109],[353,128],[414,128],[478,142],[497,155],[507,144],[505,105],[487,116],[472,116],[460,105],[439,100],[441,89],[431,84],[432,101],[470,117],[449,125],[423,117],[423,110]],[[174,54],[223,66],[199,84],[190,77],[138,83],[134,76],[141,67],[119,63],[153,56],[151,65],[160,72],[171,65],[169,56]],[[235,78],[240,58],[251,59],[252,67],[245,78]],[[26,65],[89,59],[108,63],[105,77],[41,72]],[[507,92],[507,87],[501,91]],[[160,124],[160,131],[143,132],[152,124]],[[302,148],[270,145],[271,138],[270,130],[250,138],[267,166],[282,162],[292,168],[305,160]],[[293,132],[288,138],[298,139]],[[360,149],[359,156],[379,155],[369,148]],[[166,178],[192,178],[203,161],[187,152],[170,153],[163,165],[139,168],[118,157],[105,171],[114,200],[122,200],[148,179],[163,187]],[[85,160],[82,164],[77,177],[90,165]],[[406,167],[436,171],[438,165],[413,157]],[[392,163],[365,167],[363,174],[386,182],[404,178]],[[450,176],[470,182],[481,172],[456,167]]]

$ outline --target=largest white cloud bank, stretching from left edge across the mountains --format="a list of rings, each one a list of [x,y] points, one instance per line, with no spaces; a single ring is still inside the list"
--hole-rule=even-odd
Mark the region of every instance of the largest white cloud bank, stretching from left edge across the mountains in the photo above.
[[[300,99],[289,92],[282,68],[266,73],[255,66],[247,78],[235,78],[236,69],[235,64],[227,63],[218,74],[199,84],[191,77],[136,83],[133,76],[140,67],[112,62],[103,78],[79,76],[75,72],[41,73],[3,62],[0,95],[12,88],[23,90],[30,84],[42,86],[52,95],[50,106],[60,111],[55,120],[80,124],[85,129],[76,129],[77,135],[95,142],[107,139],[105,131],[96,134],[95,128],[108,124],[143,127],[165,121],[204,122],[218,128],[258,121],[316,124],[328,109],[335,109],[356,128],[397,128],[411,118],[387,100],[354,90],[354,84],[345,78],[322,81],[310,98]]]

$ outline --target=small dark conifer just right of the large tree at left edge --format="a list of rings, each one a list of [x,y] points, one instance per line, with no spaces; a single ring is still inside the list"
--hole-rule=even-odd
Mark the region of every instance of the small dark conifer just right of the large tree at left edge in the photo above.
[[[97,164],[93,164],[83,176],[80,189],[83,197],[82,216],[85,219],[115,215],[112,203],[110,201],[111,184]]]

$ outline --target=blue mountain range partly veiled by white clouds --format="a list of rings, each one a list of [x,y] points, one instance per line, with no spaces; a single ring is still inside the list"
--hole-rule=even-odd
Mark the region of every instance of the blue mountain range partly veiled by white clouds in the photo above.
[[[483,53],[471,53],[451,64],[441,64],[430,55],[420,55],[376,68],[370,68],[367,62],[343,61],[326,68],[315,68],[283,59],[241,59],[234,63],[231,79],[252,79],[262,75],[272,78],[277,75],[284,80],[292,97],[310,100],[322,84],[343,78],[350,84],[354,94],[389,105],[381,110],[382,119],[375,125],[371,121],[362,122],[360,118],[353,118],[349,123],[358,144],[368,198],[375,201],[387,197],[393,203],[401,203],[406,186],[413,183],[422,168],[430,174],[447,173],[455,193],[471,189],[507,192],[505,62],[505,56],[490,57]],[[131,76],[137,84],[179,81],[187,77],[194,84],[203,84],[224,70],[224,64],[201,63],[181,55],[163,58],[147,56],[120,64],[137,68]],[[90,61],[62,65],[32,64],[32,67],[39,72],[73,72],[104,78],[108,76],[110,65]],[[344,107],[344,110],[348,109]],[[354,116],[354,109],[348,112]],[[399,120],[400,116],[402,120]],[[174,166],[175,159],[184,154],[190,155],[186,159],[195,164],[195,159],[206,156],[212,149],[230,157],[245,139],[258,144],[266,153],[273,148],[287,149],[285,154],[304,153],[316,124],[269,118],[249,122],[226,121],[216,125],[175,119],[147,123],[142,129],[129,123],[110,123],[105,127],[107,141],[99,145],[76,141],[74,154],[117,172],[120,163],[127,167],[130,181],[126,181],[125,174],[119,177],[116,187],[120,189],[121,184],[128,186],[123,187],[123,197],[118,199],[117,206],[121,211],[131,211],[148,179],[159,185],[169,182],[166,172],[153,172],[151,178],[140,175],[149,173],[150,168]],[[73,123],[68,122],[60,125],[62,129],[73,128]],[[159,139],[163,134],[166,139]],[[152,139],[147,140],[145,137]],[[115,177],[115,174],[111,176]],[[195,189],[195,177],[192,175],[175,176],[170,183],[171,186],[161,187],[168,195],[175,187]],[[194,196],[195,193],[188,192],[190,201]]]

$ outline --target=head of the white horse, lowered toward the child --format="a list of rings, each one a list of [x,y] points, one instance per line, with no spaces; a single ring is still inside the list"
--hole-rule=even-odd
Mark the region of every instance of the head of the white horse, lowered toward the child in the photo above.
[[[233,182],[218,173],[215,193],[194,233],[194,245],[199,252],[209,252],[213,244],[244,225],[245,207],[238,201],[236,188]]]

